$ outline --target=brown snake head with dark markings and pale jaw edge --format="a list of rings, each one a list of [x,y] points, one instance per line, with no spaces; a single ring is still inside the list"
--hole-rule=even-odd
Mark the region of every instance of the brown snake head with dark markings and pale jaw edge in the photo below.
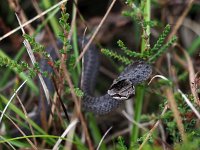
[[[135,95],[135,87],[128,79],[116,79],[109,88],[108,95],[116,100],[127,100]]]

